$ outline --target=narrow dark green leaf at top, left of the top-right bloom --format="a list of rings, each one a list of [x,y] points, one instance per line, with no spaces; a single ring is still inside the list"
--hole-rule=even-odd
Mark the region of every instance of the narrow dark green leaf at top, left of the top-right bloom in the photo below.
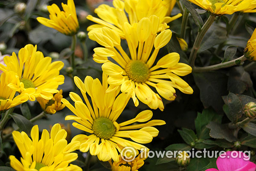
[[[186,9],[189,10],[189,13],[191,14],[193,20],[195,21],[195,24],[202,28],[204,26],[204,22],[201,18],[201,16],[198,14],[198,12],[195,10],[195,8],[189,3],[187,0],[181,0],[181,3],[184,5]]]

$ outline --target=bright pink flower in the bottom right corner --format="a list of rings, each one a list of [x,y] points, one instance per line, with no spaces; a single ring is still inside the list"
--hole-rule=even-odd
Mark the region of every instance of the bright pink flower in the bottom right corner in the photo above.
[[[227,151],[216,161],[218,169],[209,168],[206,171],[255,171],[256,165],[241,151]]]

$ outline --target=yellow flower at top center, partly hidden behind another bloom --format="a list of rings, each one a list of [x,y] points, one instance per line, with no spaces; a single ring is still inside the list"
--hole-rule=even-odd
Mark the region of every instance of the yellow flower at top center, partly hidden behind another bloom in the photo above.
[[[182,14],[169,17],[175,3],[176,0],[113,0],[114,7],[102,4],[95,9],[94,12],[100,19],[91,15],[87,16],[88,20],[97,23],[89,26],[87,31],[106,26],[117,31],[119,36],[125,39],[124,23],[128,20],[130,24],[133,24],[138,23],[143,17],[156,15],[160,23],[169,23],[181,17]],[[128,13],[128,18],[125,12]]]

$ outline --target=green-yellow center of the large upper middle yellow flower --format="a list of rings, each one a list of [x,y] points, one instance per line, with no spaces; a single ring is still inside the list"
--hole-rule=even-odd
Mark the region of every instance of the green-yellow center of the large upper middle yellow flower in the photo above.
[[[145,83],[149,77],[148,66],[140,60],[131,60],[125,68],[128,77],[136,83]]]

